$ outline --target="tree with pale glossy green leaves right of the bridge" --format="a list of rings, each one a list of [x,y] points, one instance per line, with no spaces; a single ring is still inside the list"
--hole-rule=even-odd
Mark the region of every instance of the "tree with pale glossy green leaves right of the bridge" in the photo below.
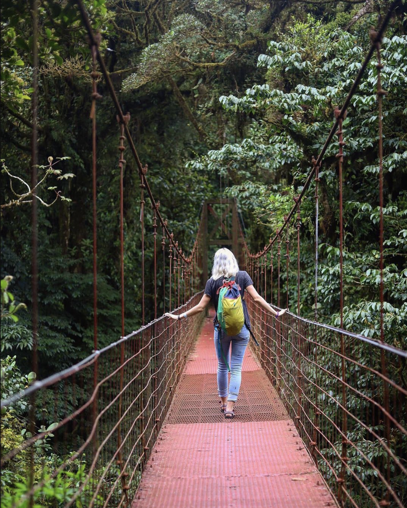
[[[391,32],[391,30],[390,30]],[[259,67],[267,69],[264,84],[246,89],[242,96],[221,96],[226,111],[255,114],[247,136],[240,143],[225,144],[219,150],[189,163],[189,167],[221,175],[238,173],[241,183],[230,186],[227,194],[239,199],[242,209],[251,209],[257,223],[269,227],[263,244],[273,236],[283,216],[293,205],[292,198],[302,190],[311,155],[317,155],[332,125],[333,107],[341,105],[360,68],[367,41],[360,32],[351,34],[339,26],[323,24],[308,15],[295,19],[279,41],[268,44],[268,54],[259,56]],[[405,130],[405,71],[407,37],[389,35],[383,39],[382,84],[387,90],[384,103],[385,174],[385,335],[386,340],[405,345],[404,240],[407,215],[406,190],[395,182],[407,173]],[[378,202],[379,165],[377,104],[374,88],[377,69],[369,63],[359,90],[351,101],[343,122],[346,141],[344,162],[344,326],[380,338]],[[403,86],[404,85],[404,86]],[[402,92],[400,92],[400,86]],[[338,184],[336,143],[327,150],[320,170],[320,315],[338,325],[339,249]],[[278,183],[276,183],[276,181]],[[312,235],[315,230],[312,189],[301,204],[302,273],[311,276],[307,264],[314,263]],[[321,231],[322,230],[322,231]],[[256,248],[260,248],[256,226]],[[271,233],[270,233],[271,231]],[[294,267],[293,267],[294,268]],[[294,270],[290,280],[295,287]],[[302,314],[312,312],[312,285],[301,283]],[[294,289],[290,295],[295,298]],[[307,305],[307,302],[308,305]],[[376,303],[374,303],[376,302]],[[305,304],[305,305],[304,305]],[[372,304],[373,307],[372,307]],[[311,314],[312,315],[312,314]],[[328,317],[330,316],[330,317]]]

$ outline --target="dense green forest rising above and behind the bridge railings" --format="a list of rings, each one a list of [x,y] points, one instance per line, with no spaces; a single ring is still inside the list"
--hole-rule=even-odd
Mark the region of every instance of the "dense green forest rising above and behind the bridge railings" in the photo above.
[[[281,224],[349,91],[383,0],[86,0],[160,211],[191,247],[204,199],[236,197],[253,251]],[[2,355],[30,370],[32,22],[29,3],[2,2],[1,276],[27,305],[18,322],[2,307]],[[400,3],[384,61],[385,338],[406,346],[407,38]],[[40,376],[93,347],[90,53],[74,2],[39,12]],[[370,62],[344,122],[344,327],[379,338],[377,69]],[[120,336],[118,126],[98,81],[100,346]],[[320,170],[318,312],[338,324],[337,145]],[[53,159],[50,160],[49,157]],[[51,162],[50,162],[51,161]],[[57,163],[57,166],[55,165]],[[55,168],[54,168],[55,166]],[[12,186],[10,185],[12,182]],[[56,196],[55,193],[59,192]],[[301,208],[301,314],[314,315],[314,193]],[[126,326],[140,324],[140,188],[130,154],[124,174]],[[48,206],[50,205],[50,206]],[[151,210],[147,209],[147,216]],[[150,215],[149,215],[150,214]],[[151,222],[150,222],[151,223]],[[152,231],[146,232],[146,271]],[[295,264],[295,263],[294,263]],[[293,264],[293,265],[294,265]],[[296,266],[290,300],[296,301]],[[160,282],[159,282],[160,283]],[[3,287],[2,287],[3,290]],[[152,301],[152,285],[146,293]],[[294,304],[293,304],[294,305]],[[151,306],[150,306],[151,307]],[[4,314],[4,315],[3,315]],[[148,318],[151,318],[151,311]],[[2,393],[3,397],[3,393]]]

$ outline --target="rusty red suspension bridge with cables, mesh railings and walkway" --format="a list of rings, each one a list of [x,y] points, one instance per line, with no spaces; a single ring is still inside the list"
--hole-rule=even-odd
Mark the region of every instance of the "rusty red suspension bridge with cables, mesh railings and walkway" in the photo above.
[[[32,383],[3,400],[24,401],[30,433],[2,457],[2,470],[31,457],[26,490],[12,506],[398,506],[407,500],[405,428],[407,389],[402,378],[407,353],[387,344],[383,333],[383,144],[380,43],[397,2],[377,30],[348,97],[334,110],[326,142],[310,164],[290,213],[259,252],[249,250],[236,202],[203,204],[199,229],[187,255],[160,213],[147,168],[139,160],[128,122],[99,52],[100,37],[77,2],[92,55],[93,293],[95,351],[72,367]],[[38,6],[37,6],[38,8]],[[34,16],[34,35],[38,32]],[[34,52],[37,46],[34,44]],[[339,167],[340,315],[343,315],[342,122],[363,73],[375,55],[378,82],[381,337],[374,340],[318,321],[318,183],[331,143]],[[34,62],[38,54],[34,54]],[[120,173],[121,330],[118,340],[98,348],[97,308],[97,102],[99,71],[117,111]],[[37,90],[34,73],[34,89]],[[37,164],[37,101],[33,101],[33,168]],[[337,141],[334,141],[334,137]],[[127,143],[127,146],[126,146]],[[140,176],[141,284],[143,326],[126,334],[124,320],[123,158],[130,149]],[[314,321],[300,315],[301,202],[315,198]],[[152,208],[145,224],[144,208]],[[37,227],[33,200],[33,228]],[[226,220],[231,216],[231,224]],[[212,220],[212,229],[210,218]],[[214,220],[214,222],[213,222]],[[220,234],[218,234],[220,230]],[[145,323],[144,235],[153,235],[154,319]],[[161,234],[157,238],[157,235]],[[33,334],[37,336],[36,235],[33,248]],[[176,312],[196,305],[208,276],[210,245],[228,245],[254,285],[276,309],[278,319],[247,297],[260,342],[243,362],[236,418],[225,421],[218,405],[216,360],[210,316],[172,322],[158,308]],[[289,266],[296,257],[297,301],[289,301]],[[284,258],[284,259],[283,259]],[[293,258],[293,260],[291,259]],[[158,277],[161,284],[158,285]],[[285,280],[286,279],[286,280]],[[273,290],[274,287],[274,290]],[[275,291],[276,290],[276,291]],[[160,292],[160,294],[159,294]],[[273,301],[273,294],[277,300]],[[160,306],[160,302],[163,304]],[[294,312],[294,307],[296,311]],[[363,358],[363,361],[361,360]],[[367,360],[366,360],[367,359]],[[33,363],[36,367],[37,343]],[[52,414],[53,413],[53,414]],[[52,427],[42,427],[52,416]],[[34,450],[47,442],[60,457],[35,462]],[[396,450],[397,448],[397,450]],[[400,453],[401,450],[401,453]],[[366,476],[365,469],[372,471]],[[16,490],[17,492],[17,490]]]

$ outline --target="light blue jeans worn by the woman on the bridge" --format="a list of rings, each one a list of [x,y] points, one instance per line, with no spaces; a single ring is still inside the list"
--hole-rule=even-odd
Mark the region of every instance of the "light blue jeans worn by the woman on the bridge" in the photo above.
[[[214,332],[214,343],[217,357],[217,392],[220,397],[228,397],[228,400],[236,402],[239,394],[240,383],[242,380],[242,363],[244,352],[249,341],[250,335],[243,325],[237,335],[229,337],[222,331],[222,351],[230,365],[230,383],[228,393],[228,367],[225,364],[223,356],[219,356],[217,330]],[[230,344],[232,343],[232,356],[230,355]]]

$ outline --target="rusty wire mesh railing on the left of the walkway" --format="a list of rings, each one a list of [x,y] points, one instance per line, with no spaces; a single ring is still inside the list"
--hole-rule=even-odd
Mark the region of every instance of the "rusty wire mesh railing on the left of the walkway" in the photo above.
[[[202,317],[163,316],[2,401],[9,419],[36,401],[36,431],[2,457],[2,475],[20,480],[2,489],[2,506],[129,506]]]

